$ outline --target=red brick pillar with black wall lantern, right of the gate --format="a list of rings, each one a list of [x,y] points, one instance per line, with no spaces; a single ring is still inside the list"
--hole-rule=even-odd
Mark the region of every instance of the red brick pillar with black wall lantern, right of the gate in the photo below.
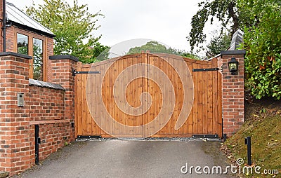
[[[223,67],[222,107],[223,134],[233,135],[244,123],[244,55],[245,50],[226,50],[221,52],[218,61]],[[232,57],[238,61],[238,71],[231,74],[228,62]]]

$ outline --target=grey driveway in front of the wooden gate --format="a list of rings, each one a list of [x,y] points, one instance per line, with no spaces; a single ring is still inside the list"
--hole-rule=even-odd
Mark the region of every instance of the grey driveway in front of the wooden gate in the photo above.
[[[234,177],[186,170],[186,165],[188,170],[226,167],[220,146],[221,142],[192,139],[73,142],[15,177]]]

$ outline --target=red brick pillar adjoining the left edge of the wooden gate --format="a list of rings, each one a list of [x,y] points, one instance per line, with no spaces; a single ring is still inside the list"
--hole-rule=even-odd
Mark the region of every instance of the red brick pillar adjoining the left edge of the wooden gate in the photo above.
[[[74,123],[74,83],[72,70],[77,69],[78,58],[72,55],[52,55],[49,57],[52,67],[52,82],[65,88],[65,119]],[[74,127],[70,125],[70,140],[74,140]]]

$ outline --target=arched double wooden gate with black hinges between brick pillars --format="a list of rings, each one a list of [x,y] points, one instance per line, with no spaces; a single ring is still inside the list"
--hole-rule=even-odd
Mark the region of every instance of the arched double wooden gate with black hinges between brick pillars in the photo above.
[[[81,64],[75,83],[75,135],[222,136],[217,60],[137,53]]]

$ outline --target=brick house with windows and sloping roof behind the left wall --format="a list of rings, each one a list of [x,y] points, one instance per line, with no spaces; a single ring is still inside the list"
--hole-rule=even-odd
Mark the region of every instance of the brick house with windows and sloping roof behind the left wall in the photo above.
[[[4,14],[1,12],[0,14],[3,19]],[[4,23],[1,25],[4,27]],[[47,73],[51,70],[49,67],[51,65],[47,59],[53,55],[53,37],[55,35],[20,11],[14,4],[8,2],[6,2],[6,27],[2,31],[5,29],[6,41],[1,39],[1,52],[11,51],[32,56],[29,77],[39,81],[50,81],[51,78],[48,78]],[[5,48],[4,43],[6,43]]]

